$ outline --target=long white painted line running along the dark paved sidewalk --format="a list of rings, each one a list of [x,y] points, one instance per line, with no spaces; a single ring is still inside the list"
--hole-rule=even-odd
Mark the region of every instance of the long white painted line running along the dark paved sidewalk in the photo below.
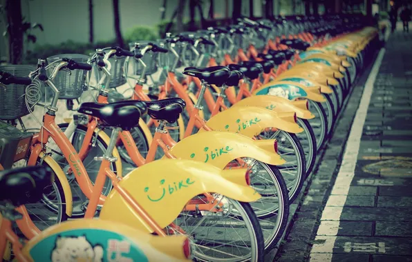
[[[337,179],[335,185],[333,185],[332,194],[339,194],[339,197],[333,195],[328,199],[327,205],[322,212],[321,221],[337,221],[333,227],[334,236],[316,236],[315,241],[324,239],[324,243],[316,243],[312,246],[310,251],[310,261],[320,261],[312,256],[312,253],[333,253],[333,247],[335,246],[337,229],[339,229],[339,220],[344,208],[350,183],[352,183],[353,177],[355,175],[355,167],[357,162],[357,155],[359,153],[359,145],[362,137],[362,131],[364,128],[366,114],[368,113],[369,103],[371,103],[371,96],[373,92],[373,84],[379,72],[380,65],[382,64],[382,59],[384,58],[385,49],[382,48],[377,56],[371,74],[369,74],[368,79],[365,83],[364,92],[362,94],[361,101],[359,103],[359,108],[355,114],[355,119],[350,129],[350,134],[348,141],[346,142],[346,148],[344,152],[344,157],[341,162],[341,167],[339,173],[337,174]],[[325,226],[319,227],[317,235],[324,234],[326,230]],[[332,230],[330,230],[332,232]],[[318,241],[319,242],[319,241]],[[322,261],[332,261],[332,256],[323,256]]]

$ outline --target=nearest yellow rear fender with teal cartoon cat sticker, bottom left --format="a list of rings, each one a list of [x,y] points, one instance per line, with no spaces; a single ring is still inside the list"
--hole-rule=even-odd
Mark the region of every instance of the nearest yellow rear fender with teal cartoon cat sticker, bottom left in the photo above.
[[[190,261],[186,259],[182,249],[186,236],[153,236],[143,230],[103,219],[78,219],[53,225],[28,241],[21,251],[31,259],[30,261],[51,261],[50,257],[57,245],[57,239],[65,236],[86,241],[84,248],[87,244],[92,248],[99,245],[102,252],[95,252],[95,256],[110,256],[113,252],[110,243],[117,240],[119,245],[126,245],[129,250],[123,255],[129,256],[129,259],[133,258],[133,261]]]

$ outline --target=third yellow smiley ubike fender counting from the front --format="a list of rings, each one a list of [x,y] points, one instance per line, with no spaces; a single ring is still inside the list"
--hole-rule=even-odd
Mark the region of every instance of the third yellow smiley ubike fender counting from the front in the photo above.
[[[216,131],[240,133],[255,137],[266,128],[277,128],[290,133],[300,133],[303,129],[292,119],[282,119],[277,112],[256,106],[236,106],[219,112],[207,121],[207,126]]]

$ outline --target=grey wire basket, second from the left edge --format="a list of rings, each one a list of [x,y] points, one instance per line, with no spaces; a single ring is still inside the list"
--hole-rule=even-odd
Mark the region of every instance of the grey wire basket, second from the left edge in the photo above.
[[[84,54],[59,54],[53,57],[48,57],[47,62],[53,63],[62,58],[72,59],[78,63],[87,63],[88,56]],[[59,63],[55,63],[47,70],[47,74],[53,73],[53,70]],[[59,92],[59,99],[78,99],[84,91],[84,80],[86,77],[86,70],[60,70],[53,83]]]

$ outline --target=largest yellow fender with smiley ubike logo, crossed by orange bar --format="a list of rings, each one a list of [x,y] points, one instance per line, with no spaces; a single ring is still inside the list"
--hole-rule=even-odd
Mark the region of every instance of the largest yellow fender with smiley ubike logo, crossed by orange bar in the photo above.
[[[196,135],[191,137],[194,136]],[[191,143],[191,148],[194,145],[196,143]],[[244,170],[242,173],[239,170],[225,170],[224,173],[228,176],[232,171],[245,178]],[[224,194],[230,199],[243,202],[256,201],[261,197],[252,187],[225,179],[221,168],[183,159],[161,159],[147,163],[127,174],[119,184],[133,199],[138,200],[139,205],[162,228],[178,217],[190,199],[204,192]],[[112,190],[107,197],[100,218],[147,232],[153,231],[116,190]]]

